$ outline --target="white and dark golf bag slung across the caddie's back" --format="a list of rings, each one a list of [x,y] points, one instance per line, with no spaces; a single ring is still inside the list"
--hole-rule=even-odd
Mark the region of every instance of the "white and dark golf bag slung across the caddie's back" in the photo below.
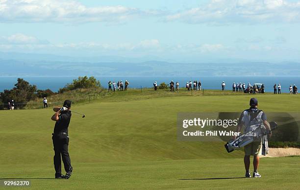
[[[268,135],[268,133],[271,133],[270,131],[267,131],[266,127],[263,125],[262,120],[260,118],[260,113],[262,114],[262,112],[258,112],[257,114],[255,114],[255,118],[250,120],[250,125],[246,129],[246,131],[248,132],[241,136],[238,136],[234,140],[231,139],[224,145],[228,153],[232,152],[233,150],[244,147],[253,141],[261,141],[261,138],[263,136]],[[270,122],[270,126],[271,131],[273,131],[277,128],[277,123],[272,121]]]

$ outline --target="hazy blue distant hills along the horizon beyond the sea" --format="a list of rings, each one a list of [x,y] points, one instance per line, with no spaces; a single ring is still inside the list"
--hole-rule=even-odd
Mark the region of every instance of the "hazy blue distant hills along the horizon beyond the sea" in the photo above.
[[[0,76],[27,75],[300,75],[300,63],[169,63],[147,61],[140,63],[122,62],[62,62],[62,61],[19,61],[1,60]]]

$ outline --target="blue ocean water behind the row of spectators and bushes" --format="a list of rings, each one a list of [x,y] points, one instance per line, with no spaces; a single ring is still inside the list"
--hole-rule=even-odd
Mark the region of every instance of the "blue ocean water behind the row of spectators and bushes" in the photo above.
[[[225,90],[232,89],[232,83],[245,83],[251,85],[254,83],[263,83],[266,92],[273,92],[274,84],[281,84],[281,92],[288,93],[289,86],[296,84],[300,85],[300,76],[95,76],[100,80],[101,85],[107,88],[108,81],[125,80],[129,82],[129,88],[144,88],[152,87],[153,83],[157,81],[158,84],[165,82],[170,83],[178,81],[180,87],[185,87],[190,80],[193,82],[197,80],[201,82],[202,89],[221,89],[222,81],[225,81]],[[17,78],[24,78],[30,84],[34,84],[38,89],[50,89],[54,92],[59,88],[64,87],[67,83],[71,83],[77,76],[0,76],[0,92],[4,89],[11,89],[17,83]]]

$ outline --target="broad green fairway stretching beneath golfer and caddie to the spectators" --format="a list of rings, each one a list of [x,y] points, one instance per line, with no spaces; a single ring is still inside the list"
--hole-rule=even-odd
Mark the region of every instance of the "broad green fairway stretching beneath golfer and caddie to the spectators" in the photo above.
[[[300,157],[261,159],[261,179],[244,177],[243,151],[223,142],[179,142],[178,112],[241,112],[253,95],[167,91],[109,94],[75,104],[69,180],[31,179],[35,189],[292,189],[300,186]],[[156,93],[156,92],[155,92]],[[265,112],[299,112],[298,95],[254,95]],[[53,178],[51,109],[0,111],[0,178]],[[252,166],[250,167],[251,171]],[[204,178],[232,178],[180,180]],[[255,181],[255,182],[254,182]]]

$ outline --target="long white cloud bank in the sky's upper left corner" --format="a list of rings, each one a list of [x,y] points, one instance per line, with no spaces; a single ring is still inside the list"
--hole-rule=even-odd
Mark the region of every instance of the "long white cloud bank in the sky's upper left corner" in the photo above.
[[[122,22],[141,14],[125,6],[86,7],[75,0],[0,0],[0,22]]]

